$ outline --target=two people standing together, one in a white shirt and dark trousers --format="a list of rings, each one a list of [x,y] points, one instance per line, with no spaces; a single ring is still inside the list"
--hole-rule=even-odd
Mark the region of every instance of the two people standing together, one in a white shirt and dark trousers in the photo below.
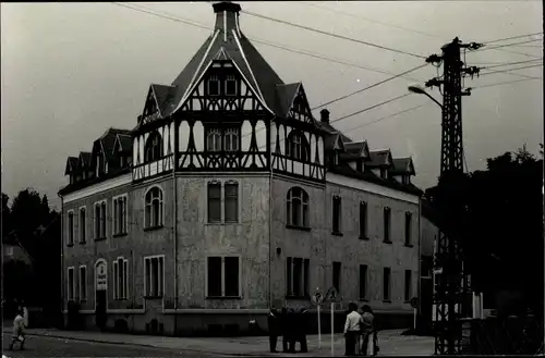
[[[376,356],[378,346],[375,331],[375,317],[370,306],[358,311],[358,305],[349,304],[344,323],[344,355]]]

